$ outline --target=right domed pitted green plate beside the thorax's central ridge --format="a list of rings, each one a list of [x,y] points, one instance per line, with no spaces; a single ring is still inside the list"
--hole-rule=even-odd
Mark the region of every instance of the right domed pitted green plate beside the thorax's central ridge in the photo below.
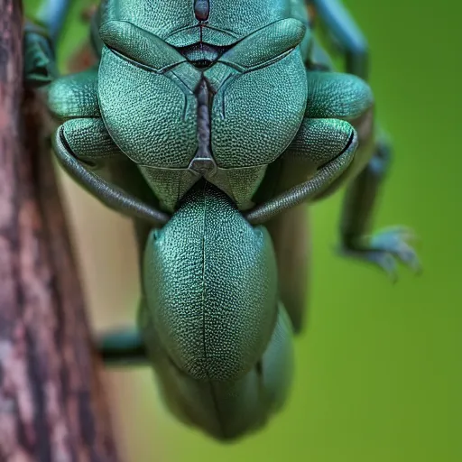
[[[218,165],[229,169],[276,160],[305,112],[307,83],[300,52],[241,74],[221,91],[212,108],[212,151]]]

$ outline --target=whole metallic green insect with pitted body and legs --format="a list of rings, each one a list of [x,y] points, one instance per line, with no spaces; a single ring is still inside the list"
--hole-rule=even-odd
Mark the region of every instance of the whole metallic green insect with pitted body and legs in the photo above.
[[[290,390],[307,203],[348,183],[345,254],[392,275],[400,260],[419,267],[407,229],[369,233],[390,149],[365,40],[337,0],[106,0],[91,39],[97,66],[56,78],[32,27],[26,79],[60,121],[60,164],[134,218],[138,326],[102,337],[102,355],[152,365],[179,420],[237,439]]]

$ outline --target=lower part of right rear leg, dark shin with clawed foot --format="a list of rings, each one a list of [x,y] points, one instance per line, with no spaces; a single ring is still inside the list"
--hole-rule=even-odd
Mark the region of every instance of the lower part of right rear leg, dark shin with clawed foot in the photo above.
[[[391,160],[389,144],[381,140],[372,160],[347,189],[340,226],[342,253],[374,263],[396,280],[397,261],[414,272],[419,258],[411,247],[408,228],[395,226],[369,234],[377,195]]]

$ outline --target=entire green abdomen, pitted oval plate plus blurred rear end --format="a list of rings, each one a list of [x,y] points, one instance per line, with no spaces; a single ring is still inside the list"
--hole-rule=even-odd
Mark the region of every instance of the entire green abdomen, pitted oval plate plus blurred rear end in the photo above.
[[[271,238],[209,183],[148,239],[140,328],[164,401],[221,440],[264,425],[291,383]]]

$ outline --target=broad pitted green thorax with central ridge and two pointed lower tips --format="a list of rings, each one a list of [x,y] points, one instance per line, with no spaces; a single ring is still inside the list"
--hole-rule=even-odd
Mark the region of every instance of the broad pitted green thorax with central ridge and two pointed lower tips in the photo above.
[[[103,6],[101,112],[165,208],[174,209],[201,178],[239,208],[252,206],[267,165],[291,142],[304,114],[298,45],[306,34],[291,15],[293,5],[113,0]]]

